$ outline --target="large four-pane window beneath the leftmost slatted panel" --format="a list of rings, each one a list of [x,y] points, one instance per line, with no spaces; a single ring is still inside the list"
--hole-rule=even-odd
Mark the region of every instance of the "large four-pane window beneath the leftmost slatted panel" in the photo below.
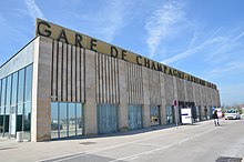
[[[83,133],[83,111],[81,103],[51,103],[51,139],[79,136]]]

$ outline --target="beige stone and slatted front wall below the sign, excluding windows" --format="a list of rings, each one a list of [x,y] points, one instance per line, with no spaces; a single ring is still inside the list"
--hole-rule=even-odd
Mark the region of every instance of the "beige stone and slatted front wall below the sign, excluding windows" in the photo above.
[[[161,124],[166,124],[165,107],[175,99],[194,102],[202,109],[220,105],[217,90],[44,37],[35,43],[39,45],[33,61],[32,141],[51,139],[51,101],[82,102],[85,135],[98,134],[99,103],[119,105],[120,131],[128,128],[128,104],[143,105],[143,128],[150,126],[151,104],[161,107]]]

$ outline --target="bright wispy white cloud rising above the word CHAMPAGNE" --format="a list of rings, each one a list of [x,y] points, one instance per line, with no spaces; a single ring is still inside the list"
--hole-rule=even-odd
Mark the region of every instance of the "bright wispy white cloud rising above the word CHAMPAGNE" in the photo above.
[[[146,20],[144,28],[149,33],[146,44],[151,58],[155,54],[160,41],[175,33],[179,23],[186,22],[184,6],[180,1],[167,1]]]

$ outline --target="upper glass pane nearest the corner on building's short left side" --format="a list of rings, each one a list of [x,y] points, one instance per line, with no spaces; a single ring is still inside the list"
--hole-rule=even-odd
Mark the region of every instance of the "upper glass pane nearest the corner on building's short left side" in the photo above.
[[[26,69],[26,87],[24,87],[24,101],[31,101],[32,89],[32,65]]]

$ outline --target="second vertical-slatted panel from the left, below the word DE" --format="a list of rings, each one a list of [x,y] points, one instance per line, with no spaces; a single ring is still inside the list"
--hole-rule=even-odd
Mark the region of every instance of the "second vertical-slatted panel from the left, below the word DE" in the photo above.
[[[120,103],[118,59],[95,54],[95,87],[98,103]]]

